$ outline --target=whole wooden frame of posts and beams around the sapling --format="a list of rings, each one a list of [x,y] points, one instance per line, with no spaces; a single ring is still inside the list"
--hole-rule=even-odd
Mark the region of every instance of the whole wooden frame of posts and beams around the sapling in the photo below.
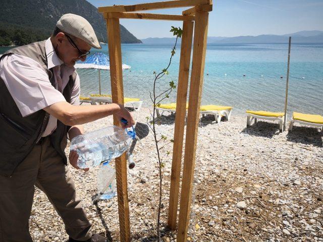
[[[149,13],[128,13],[140,10],[155,10],[180,7],[193,7],[182,12],[182,15],[163,15]],[[192,198],[192,181],[195,166],[195,153],[197,143],[197,130],[200,114],[200,103],[203,86],[203,72],[205,64],[206,38],[208,26],[208,12],[212,11],[212,0],[177,0],[137,4],[131,6],[99,7],[98,12],[106,19],[110,75],[113,102],[123,103],[122,57],[120,41],[119,19],[152,19],[183,21],[183,35],[181,45],[178,93],[176,104],[176,118],[174,131],[173,162],[171,174],[170,206],[168,213],[168,226],[176,229],[178,198],[180,187],[180,172],[183,153],[184,125],[186,115],[186,100],[188,79],[190,71],[191,46],[194,27],[194,45],[192,57],[192,72],[190,93],[187,110],[186,142],[184,154],[184,167],[182,178],[182,191],[179,212],[177,241],[184,242],[187,238],[187,228]],[[114,116],[114,124],[119,120]],[[129,203],[127,187],[127,163],[125,155],[116,159],[118,209],[120,222],[120,240],[130,241]]]

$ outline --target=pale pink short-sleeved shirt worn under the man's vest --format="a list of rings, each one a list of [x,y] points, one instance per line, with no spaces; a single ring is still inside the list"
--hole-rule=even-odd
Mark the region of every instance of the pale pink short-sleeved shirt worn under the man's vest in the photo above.
[[[55,87],[39,63],[19,54],[6,55],[0,62],[0,77],[4,80],[23,117],[51,104],[66,101],[64,88],[70,75],[75,72],[63,64],[48,38],[45,42],[47,68],[53,70]],[[79,105],[80,78],[77,75],[72,88],[71,104]],[[57,118],[50,115],[43,137],[50,135],[57,127]]]

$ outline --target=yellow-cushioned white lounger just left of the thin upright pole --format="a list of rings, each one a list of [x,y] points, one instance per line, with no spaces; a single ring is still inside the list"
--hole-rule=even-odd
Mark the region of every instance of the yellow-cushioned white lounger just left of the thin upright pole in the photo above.
[[[284,112],[267,112],[267,111],[252,111],[247,110],[247,127],[251,125],[252,119],[254,119],[254,123],[257,123],[258,119],[264,120],[278,120],[279,122],[279,132],[283,132],[283,124],[284,124]]]

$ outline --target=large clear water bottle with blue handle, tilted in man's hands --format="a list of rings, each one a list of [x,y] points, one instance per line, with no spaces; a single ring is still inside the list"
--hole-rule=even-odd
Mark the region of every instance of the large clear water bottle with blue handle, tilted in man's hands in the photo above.
[[[77,152],[77,165],[84,169],[119,157],[128,149],[135,135],[134,131],[111,126],[74,137],[70,149]]]

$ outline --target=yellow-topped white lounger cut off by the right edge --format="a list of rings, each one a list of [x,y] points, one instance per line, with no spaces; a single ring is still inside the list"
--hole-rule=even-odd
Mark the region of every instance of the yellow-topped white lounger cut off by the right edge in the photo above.
[[[320,128],[323,133],[323,116],[321,115],[293,112],[293,117],[289,123],[289,131],[293,130],[294,123]]]

